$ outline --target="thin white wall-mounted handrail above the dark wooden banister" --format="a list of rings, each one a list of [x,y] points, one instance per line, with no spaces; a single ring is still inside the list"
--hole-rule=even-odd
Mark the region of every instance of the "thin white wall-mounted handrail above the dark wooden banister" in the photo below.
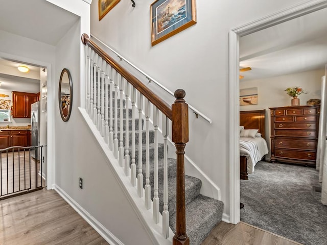
[[[127,64],[129,64],[130,66],[132,66],[135,70],[137,70],[138,72],[140,72],[142,75],[144,75],[146,77],[146,79],[148,79],[150,82],[154,82],[157,86],[159,86],[161,89],[164,89],[166,92],[168,92],[170,95],[174,96],[174,92],[172,92],[171,90],[169,90],[168,88],[166,88],[164,85],[160,84],[158,81],[156,81],[155,79],[153,79],[152,77],[150,77],[148,74],[146,74],[146,72],[144,72],[143,70],[139,69],[138,67],[136,67],[134,64],[132,64],[130,61],[128,61],[126,58],[124,58],[123,56],[121,56],[118,52],[114,51],[111,47],[109,47],[107,44],[105,44],[104,42],[102,42],[99,38],[97,38],[95,35],[90,34],[91,38],[96,39],[98,42],[100,42],[102,45],[104,45],[106,48],[108,48],[111,52],[113,52],[116,56],[118,56],[121,60],[124,60]],[[191,106],[189,104],[189,108],[195,113],[196,117],[201,116],[203,119],[205,119],[206,121],[209,122],[209,124],[212,123],[212,120],[207,117],[206,115],[204,115],[203,113],[201,113],[199,110],[195,109],[193,106]]]

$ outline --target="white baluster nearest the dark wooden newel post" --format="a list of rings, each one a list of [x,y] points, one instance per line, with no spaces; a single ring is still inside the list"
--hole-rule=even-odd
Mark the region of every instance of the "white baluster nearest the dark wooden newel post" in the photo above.
[[[168,118],[162,115],[162,135],[164,136],[164,210],[162,211],[162,234],[169,237],[169,211],[168,211],[168,146],[169,134]]]

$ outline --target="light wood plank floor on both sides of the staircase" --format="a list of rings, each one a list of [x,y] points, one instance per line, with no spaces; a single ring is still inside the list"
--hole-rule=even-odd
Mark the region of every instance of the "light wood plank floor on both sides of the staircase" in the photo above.
[[[55,190],[43,189],[0,201],[0,244],[108,243]],[[237,225],[220,222],[202,245],[301,244],[242,222]]]

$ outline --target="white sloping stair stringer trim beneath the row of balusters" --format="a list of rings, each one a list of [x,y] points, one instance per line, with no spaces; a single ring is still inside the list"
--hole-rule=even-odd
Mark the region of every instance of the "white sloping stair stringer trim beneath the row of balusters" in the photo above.
[[[85,122],[88,125],[89,129],[91,130],[92,135],[96,138],[99,148],[102,150],[102,153],[104,154],[105,158],[108,159],[108,166],[111,168],[115,179],[118,181],[139,221],[141,222],[144,229],[148,233],[150,239],[152,240],[152,244],[171,245],[174,236],[172,230],[169,229],[169,238],[166,239],[164,238],[164,236],[162,236],[161,214],[160,222],[158,224],[155,224],[152,217],[153,205],[151,204],[151,209],[149,210],[145,208],[144,197],[138,197],[137,187],[131,185],[129,176],[125,176],[124,169],[119,166],[118,160],[115,159],[115,157],[113,156],[108,144],[104,141],[104,138],[101,136],[99,130],[94,125],[94,122],[89,118],[89,115],[87,114],[86,110],[80,107],[78,109],[82,114],[83,118],[85,119]]]

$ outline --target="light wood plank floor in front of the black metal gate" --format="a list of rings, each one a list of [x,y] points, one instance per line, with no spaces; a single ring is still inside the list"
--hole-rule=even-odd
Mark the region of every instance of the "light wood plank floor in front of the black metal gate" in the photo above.
[[[55,190],[0,201],[0,244],[108,244]]]

